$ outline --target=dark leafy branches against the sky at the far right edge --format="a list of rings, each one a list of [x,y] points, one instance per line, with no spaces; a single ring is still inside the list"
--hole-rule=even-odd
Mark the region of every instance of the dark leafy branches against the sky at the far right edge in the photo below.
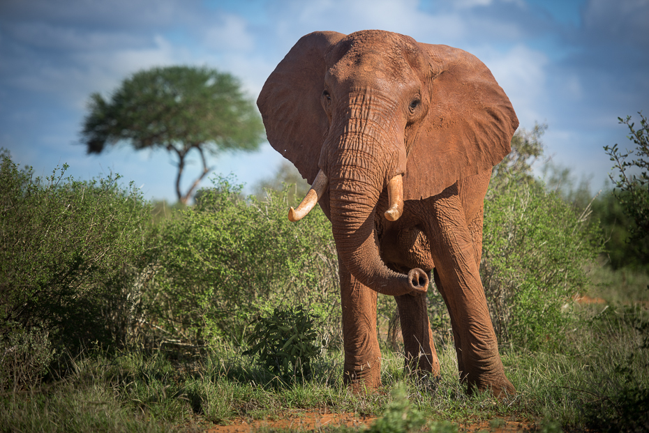
[[[642,113],[639,115],[641,128],[637,130],[634,129],[635,123],[631,121],[631,116],[626,119],[618,117],[620,123],[629,128],[629,139],[636,145],[635,151],[622,153],[618,144],[604,146],[604,151],[611,157],[611,161],[615,162],[613,169],[619,172],[617,179],[613,174],[609,175],[618,189],[614,190],[614,194],[625,213],[635,222],[631,231],[632,241],[640,241],[649,236],[649,123]],[[635,158],[629,161],[627,158],[630,155]],[[638,174],[634,167],[639,170]]]

